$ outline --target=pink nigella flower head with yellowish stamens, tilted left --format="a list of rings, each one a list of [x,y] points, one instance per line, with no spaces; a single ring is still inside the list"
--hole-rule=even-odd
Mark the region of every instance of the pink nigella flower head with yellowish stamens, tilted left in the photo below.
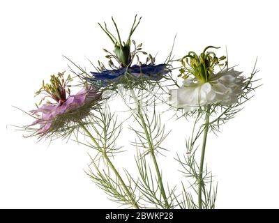
[[[102,93],[94,86],[89,85],[85,85],[76,94],[71,94],[70,89],[67,88],[67,84],[71,80],[70,76],[65,80],[63,74],[52,75],[50,84],[43,83],[43,87],[36,93],[37,95],[47,94],[47,97],[54,100],[54,102],[47,101],[38,109],[30,111],[36,116],[36,121],[31,123],[29,127],[38,125],[36,134],[40,136],[60,131],[62,134],[66,133],[66,125],[81,123],[82,119],[90,114],[91,109],[98,105],[102,98]]]

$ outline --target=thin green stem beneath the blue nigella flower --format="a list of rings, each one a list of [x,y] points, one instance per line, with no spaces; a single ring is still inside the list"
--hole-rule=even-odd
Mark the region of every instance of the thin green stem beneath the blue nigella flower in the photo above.
[[[142,123],[142,127],[144,128],[144,134],[145,134],[146,139],[147,139],[148,144],[149,144],[150,154],[151,154],[152,161],[153,161],[154,167],[156,169],[156,174],[157,174],[157,177],[158,177],[158,183],[159,183],[159,186],[160,186],[160,192],[161,192],[161,195],[162,195],[162,197],[163,197],[163,199],[165,201],[165,208],[169,208],[169,203],[167,201],[167,196],[165,194],[165,188],[164,188],[164,185],[163,185],[162,176],[160,174],[160,169],[158,167],[158,162],[156,160],[156,155],[154,153],[153,141],[151,139],[151,135],[149,134],[149,132],[147,130],[146,123],[144,121],[144,116],[142,114],[142,106],[140,105],[139,100],[137,100],[137,97],[135,96],[135,91],[132,88],[130,89],[130,91],[131,91],[132,96],[133,96],[133,98],[135,100],[135,103],[137,105],[137,115],[140,117],[140,121]]]

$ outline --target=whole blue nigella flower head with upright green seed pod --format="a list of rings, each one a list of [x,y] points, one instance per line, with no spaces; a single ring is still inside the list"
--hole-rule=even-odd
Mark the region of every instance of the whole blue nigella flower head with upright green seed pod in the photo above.
[[[141,20],[141,17],[140,17]],[[153,65],[155,59],[149,54],[146,59],[146,63],[142,64],[139,61],[139,56],[137,54],[147,54],[142,51],[142,44],[136,45],[134,40],[130,40],[133,35],[135,29],[140,24],[140,20],[137,21],[137,15],[135,16],[135,20],[130,29],[129,36],[126,42],[121,40],[119,29],[114,22],[112,17],[112,22],[114,23],[117,38],[112,34],[111,31],[107,29],[107,24],[103,27],[101,24],[100,28],[107,34],[114,45],[114,52],[108,52],[107,49],[104,49],[105,52],[108,53],[106,56],[110,59],[109,64],[112,70],[105,69],[103,63],[100,64],[100,68],[98,72],[90,72],[92,78],[89,77],[87,80],[93,84],[98,84],[99,86],[107,86],[109,84],[124,84],[124,88],[130,88],[131,85],[144,86],[146,81],[159,81],[166,75],[170,70],[167,68],[167,64],[162,63],[158,65]],[[134,45],[135,49],[131,52],[131,45]],[[137,57],[139,65],[132,65],[133,59]],[[114,62],[111,59],[114,59],[119,66],[114,66]],[[149,64],[147,64],[150,62]],[[132,83],[132,84],[131,84]],[[125,85],[128,84],[128,85]]]

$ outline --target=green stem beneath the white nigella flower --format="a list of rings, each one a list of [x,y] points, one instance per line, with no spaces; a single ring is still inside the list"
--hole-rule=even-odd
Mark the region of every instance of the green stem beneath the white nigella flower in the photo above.
[[[210,116],[210,105],[206,107],[206,116],[204,121],[204,138],[202,140],[202,153],[201,159],[199,163],[199,181],[198,181],[198,202],[199,202],[199,209],[202,209],[202,188],[204,187],[204,180],[203,180],[203,171],[204,171],[204,155],[205,155],[205,148],[206,148],[206,139],[207,134],[209,132],[209,116]]]

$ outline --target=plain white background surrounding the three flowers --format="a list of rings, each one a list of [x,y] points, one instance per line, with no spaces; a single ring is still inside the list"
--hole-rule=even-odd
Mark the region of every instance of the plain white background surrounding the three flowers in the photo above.
[[[176,33],[177,57],[207,45],[223,47],[221,54],[227,46],[229,63],[249,74],[258,56],[264,85],[218,138],[211,136],[206,160],[218,181],[217,208],[279,208],[277,2],[0,1],[0,208],[119,207],[84,174],[89,158],[83,146],[36,143],[7,125],[30,122],[12,105],[33,109],[33,93],[42,80],[67,70],[62,54],[84,66],[86,57],[105,62],[102,48],[112,49],[112,44],[97,22],[111,26],[113,15],[126,38],[136,13],[143,19],[133,38],[147,52],[158,52],[158,62]],[[186,125],[169,123],[180,132],[171,135],[169,150],[183,151]],[[134,165],[125,155],[119,159],[126,167]],[[175,171],[167,165],[165,178],[176,180],[171,178]]]

